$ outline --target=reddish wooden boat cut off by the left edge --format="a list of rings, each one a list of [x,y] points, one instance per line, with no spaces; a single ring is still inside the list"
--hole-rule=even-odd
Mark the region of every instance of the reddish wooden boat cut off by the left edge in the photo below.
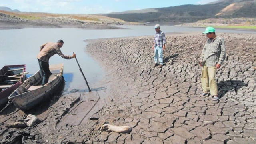
[[[8,96],[26,80],[26,65],[7,65],[0,70],[0,108],[8,102]]]

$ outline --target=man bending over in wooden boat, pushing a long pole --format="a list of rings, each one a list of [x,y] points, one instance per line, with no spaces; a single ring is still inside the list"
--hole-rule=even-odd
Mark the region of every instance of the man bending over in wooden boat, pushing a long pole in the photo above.
[[[54,54],[58,54],[62,58],[71,59],[76,57],[76,54],[72,56],[66,56],[62,54],[60,48],[63,46],[63,40],[58,40],[57,43],[54,42],[47,42],[40,47],[40,52],[37,55],[41,77],[42,77],[42,86],[48,83],[49,77],[52,74],[49,69],[49,59]]]

